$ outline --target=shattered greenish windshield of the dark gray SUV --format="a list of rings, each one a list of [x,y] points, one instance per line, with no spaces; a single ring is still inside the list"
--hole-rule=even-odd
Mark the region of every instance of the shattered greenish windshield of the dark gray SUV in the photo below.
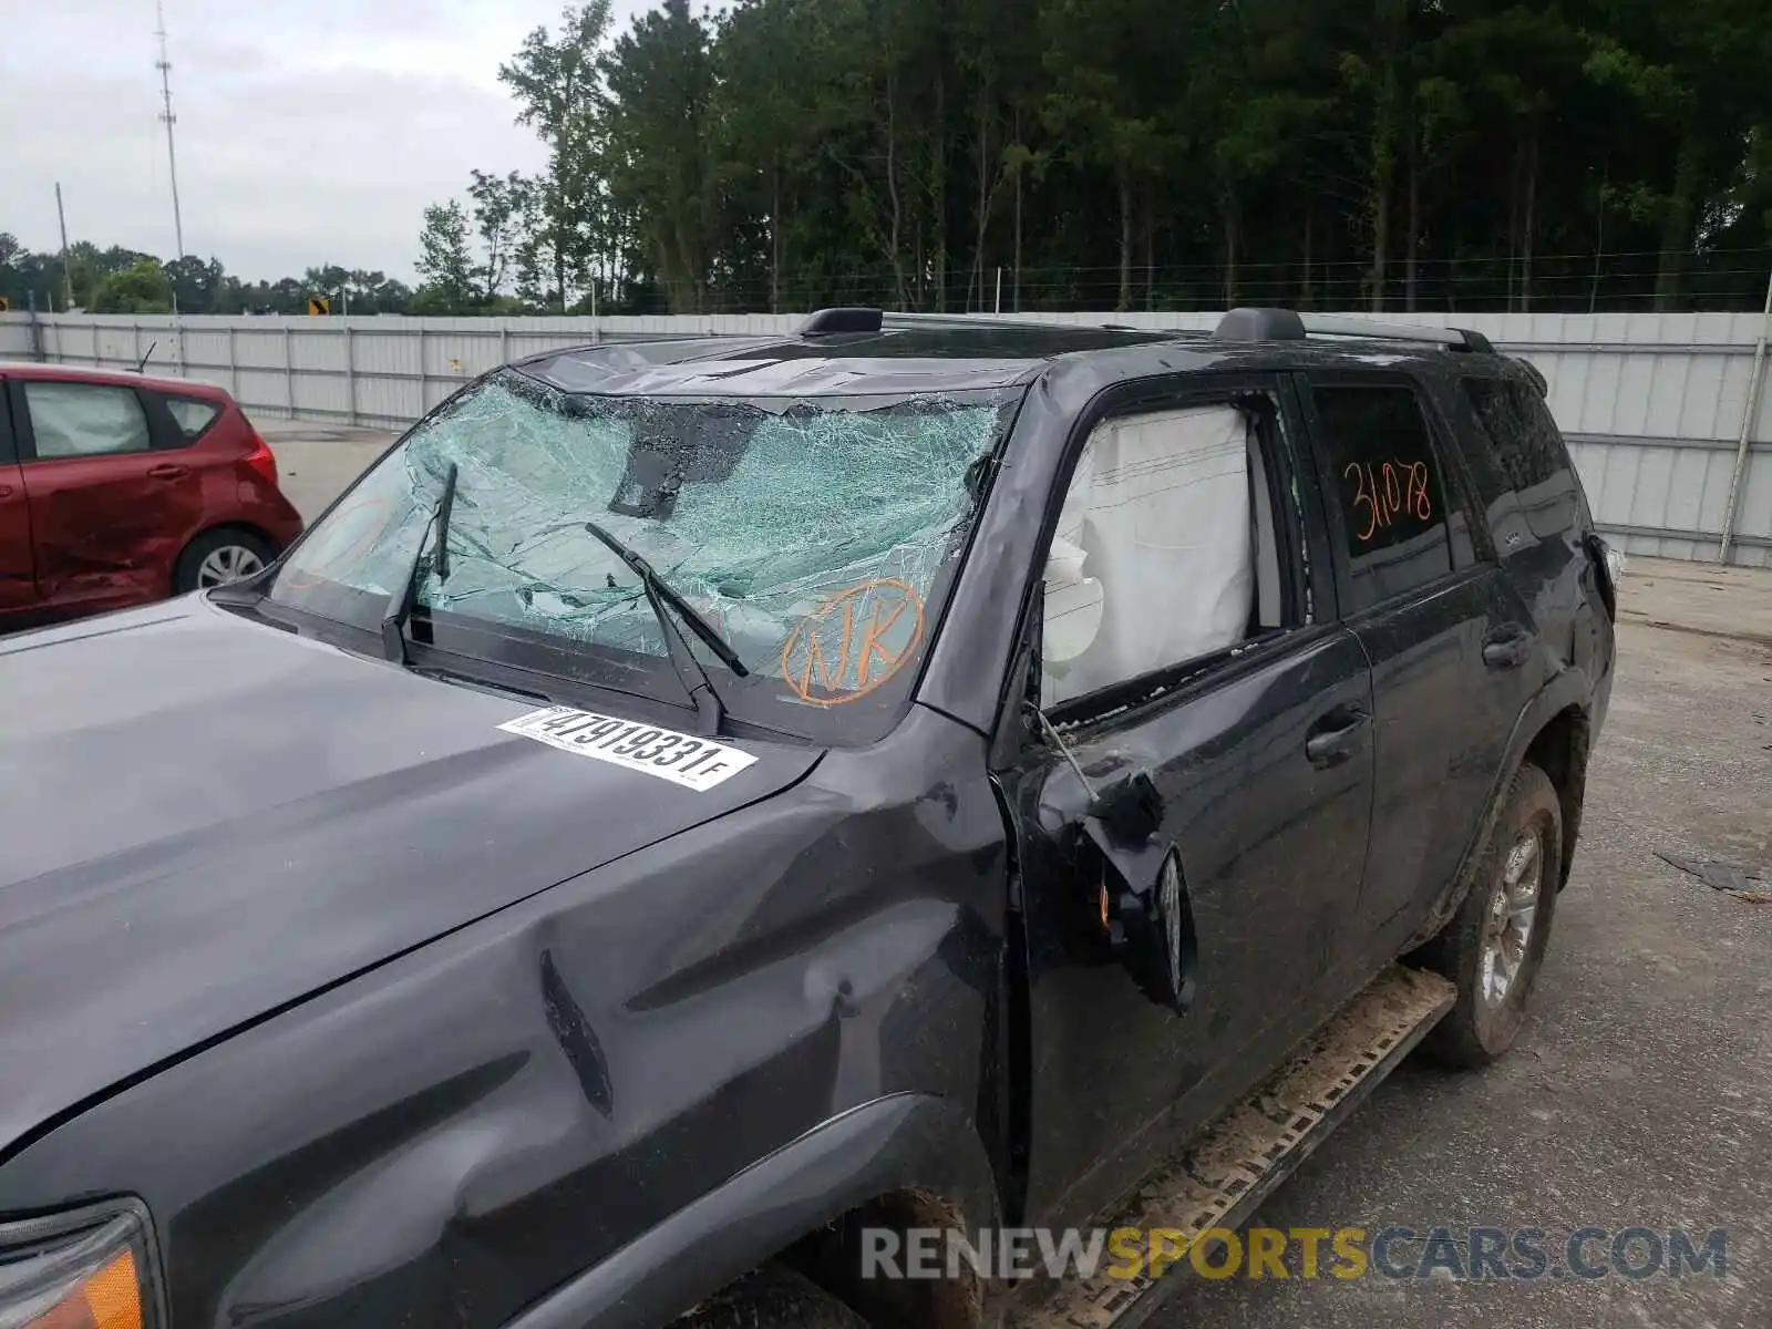
[[[744,680],[693,645],[735,716],[819,734],[806,712],[897,705],[916,677],[971,530],[975,462],[1006,409],[1001,393],[567,395],[507,370],[377,462],[291,551],[269,599],[377,629],[416,556],[418,641],[461,650],[452,627],[493,629],[501,650],[558,661],[567,647],[576,677],[680,700],[641,581],[595,523],[737,652]],[[420,546],[452,462],[439,579]]]

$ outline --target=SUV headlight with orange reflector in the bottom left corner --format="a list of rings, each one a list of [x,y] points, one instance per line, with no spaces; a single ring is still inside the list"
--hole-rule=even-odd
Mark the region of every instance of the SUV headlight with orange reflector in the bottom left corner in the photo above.
[[[152,1256],[135,1201],[0,1223],[0,1329],[156,1329]]]

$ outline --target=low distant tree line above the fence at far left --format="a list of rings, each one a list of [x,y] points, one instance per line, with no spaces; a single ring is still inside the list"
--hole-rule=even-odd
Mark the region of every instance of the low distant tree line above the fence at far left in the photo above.
[[[307,314],[310,296],[330,296],[335,312],[445,314],[425,308],[409,285],[386,273],[333,264],[308,268],[301,276],[243,282],[220,259],[163,260],[152,253],[90,241],[60,253],[37,253],[0,230],[0,296],[14,310],[82,308],[92,314]]]

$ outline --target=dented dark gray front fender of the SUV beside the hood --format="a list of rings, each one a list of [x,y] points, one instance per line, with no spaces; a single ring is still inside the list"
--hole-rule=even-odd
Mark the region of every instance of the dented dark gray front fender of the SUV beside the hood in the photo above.
[[[771,1253],[734,1237],[693,1276],[636,1267],[647,1233],[700,1230],[686,1214],[762,1246],[870,1185],[982,1216],[1005,895],[983,739],[916,711],[82,1104],[0,1162],[0,1212],[133,1193],[175,1324],[278,1329],[503,1325],[617,1253],[595,1286],[682,1310]],[[863,1120],[872,1143],[746,1214],[735,1178]]]

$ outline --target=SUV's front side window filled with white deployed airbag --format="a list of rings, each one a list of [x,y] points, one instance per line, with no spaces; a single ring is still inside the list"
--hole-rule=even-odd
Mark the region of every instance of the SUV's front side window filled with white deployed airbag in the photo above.
[[[1294,626],[1278,447],[1232,404],[1095,427],[1045,565],[1045,705]]]

